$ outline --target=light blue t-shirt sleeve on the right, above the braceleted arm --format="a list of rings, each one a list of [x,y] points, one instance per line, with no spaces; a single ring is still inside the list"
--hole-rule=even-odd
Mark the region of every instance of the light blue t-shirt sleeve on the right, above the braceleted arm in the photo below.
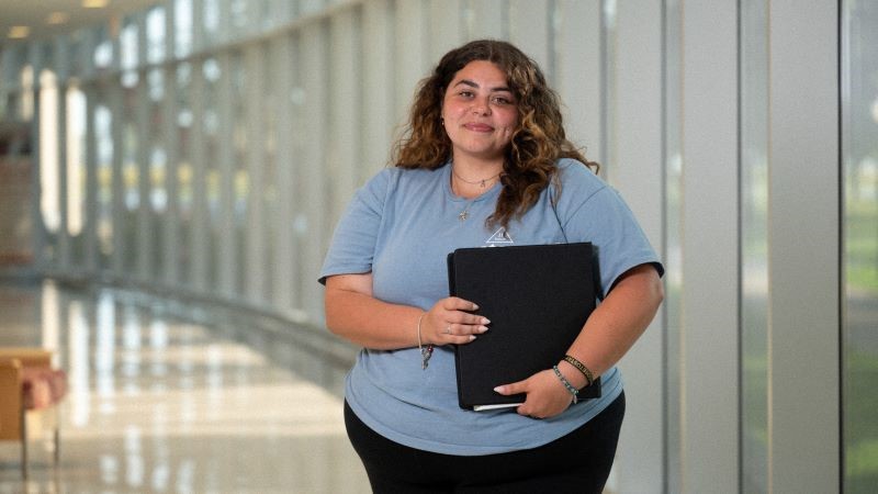
[[[658,256],[619,193],[597,177],[585,177],[592,173],[585,167],[567,171],[559,199],[559,220],[567,242],[595,246],[603,294],[609,293],[621,274],[643,263],[653,265],[662,276]]]

